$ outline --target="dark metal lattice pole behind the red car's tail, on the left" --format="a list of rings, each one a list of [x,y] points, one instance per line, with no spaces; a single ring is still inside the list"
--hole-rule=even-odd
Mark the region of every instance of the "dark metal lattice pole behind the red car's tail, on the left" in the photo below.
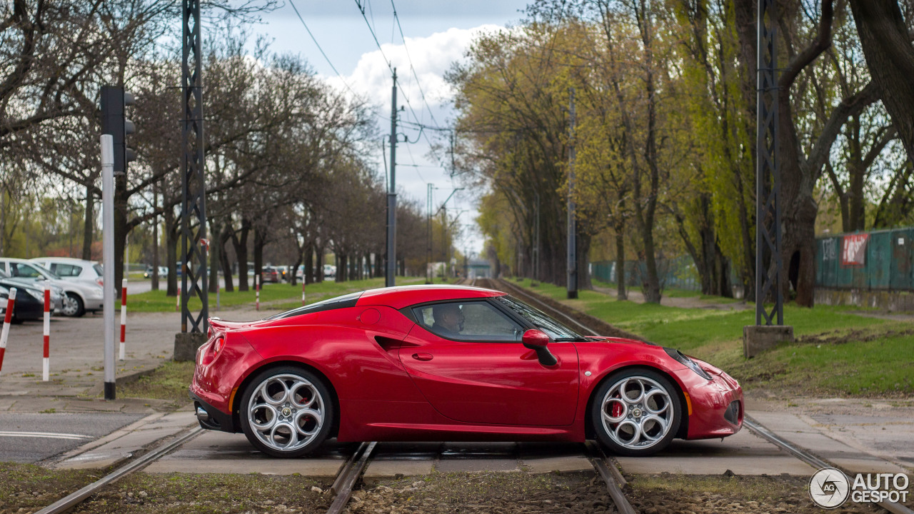
[[[206,333],[208,284],[203,240],[207,237],[207,209],[199,0],[184,0],[182,13],[181,332]],[[190,310],[191,298],[200,301],[198,313]]]

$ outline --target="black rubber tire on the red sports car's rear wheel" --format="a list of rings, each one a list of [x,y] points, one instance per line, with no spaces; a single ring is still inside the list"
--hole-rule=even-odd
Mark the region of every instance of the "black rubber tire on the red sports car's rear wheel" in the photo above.
[[[298,377],[314,386],[314,391],[316,391],[320,397],[320,412],[323,413],[323,421],[317,433],[314,434],[313,438],[308,441],[307,444],[295,448],[294,450],[277,449],[271,447],[268,444],[265,444],[263,441],[261,441],[258,431],[251,426],[249,419],[250,400],[255,392],[257,392],[257,390],[260,388],[260,384],[265,380],[270,380],[271,378],[282,376]],[[294,411],[292,412],[294,413]],[[333,396],[331,395],[327,385],[324,383],[324,380],[311,371],[307,371],[305,369],[294,366],[282,366],[278,368],[264,369],[263,371],[260,371],[254,375],[254,378],[250,380],[247,387],[245,388],[244,394],[241,396],[241,402],[239,403],[239,422],[241,423],[241,431],[244,432],[250,444],[260,450],[260,452],[274,457],[292,458],[308,455],[313,452],[314,449],[324,443],[327,435],[330,434],[330,430],[335,423],[335,415],[336,412]]]

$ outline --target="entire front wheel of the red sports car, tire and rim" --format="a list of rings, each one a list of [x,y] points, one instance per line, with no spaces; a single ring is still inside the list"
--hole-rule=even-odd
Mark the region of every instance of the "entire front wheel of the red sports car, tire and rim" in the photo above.
[[[591,407],[593,428],[612,453],[652,455],[675,437],[682,419],[675,386],[650,369],[631,369],[604,381]]]

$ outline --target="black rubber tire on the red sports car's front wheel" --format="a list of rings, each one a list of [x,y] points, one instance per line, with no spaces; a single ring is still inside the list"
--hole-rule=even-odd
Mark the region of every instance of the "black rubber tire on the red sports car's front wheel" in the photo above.
[[[654,409],[661,409],[662,406],[660,406],[660,403],[666,402],[666,399],[668,399],[668,403],[666,404],[666,407],[663,408],[663,414],[661,414],[660,417],[663,419],[663,415],[669,411],[672,412],[672,419],[667,420],[666,432],[663,437],[657,437],[659,434],[662,434],[662,431],[664,430],[662,428],[663,425],[658,422],[650,423],[649,427],[646,429],[646,432],[648,433],[651,433],[654,430],[657,432],[656,434],[645,434],[643,436],[645,439],[643,445],[638,444],[638,440],[629,442],[628,444],[631,444],[631,446],[622,445],[626,442],[617,441],[616,438],[619,436],[611,435],[607,432],[607,426],[611,429],[611,427],[618,427],[619,424],[623,423],[638,423],[642,419],[647,420],[652,415],[647,410],[638,408],[642,404],[639,404],[639,406],[632,406],[631,412],[629,412],[629,407],[626,405],[622,408],[625,409],[625,412],[628,412],[628,419],[623,418],[619,423],[604,423],[602,416],[603,400],[607,397],[607,393],[611,390],[615,390],[625,379],[634,379],[632,385],[638,384],[639,387],[641,387],[642,395],[646,392],[654,391],[654,387],[664,390],[665,398],[659,393],[653,393],[650,395],[649,400],[643,403],[643,407],[650,406]],[[651,387],[652,389],[646,389],[647,387]],[[613,393],[615,394],[616,391],[613,391]],[[616,402],[620,405],[624,403],[619,401]],[[648,402],[652,402],[652,404],[648,405]],[[634,413],[637,413],[636,411],[641,413],[639,413],[637,417],[632,417]],[[609,412],[609,414],[612,414],[612,412]],[[646,456],[653,455],[663,450],[673,441],[676,434],[679,432],[679,424],[682,423],[682,419],[682,402],[679,400],[679,388],[662,374],[652,369],[621,369],[613,373],[606,380],[603,380],[600,387],[593,393],[593,402],[590,405],[590,421],[593,426],[593,431],[597,435],[597,440],[615,455]],[[641,425],[643,423],[638,424]],[[629,426],[631,426],[631,424]],[[622,431],[622,435],[629,434],[630,432],[633,431]],[[653,435],[654,437],[657,437],[657,439],[648,440],[648,435]],[[642,436],[639,435],[639,437]]]

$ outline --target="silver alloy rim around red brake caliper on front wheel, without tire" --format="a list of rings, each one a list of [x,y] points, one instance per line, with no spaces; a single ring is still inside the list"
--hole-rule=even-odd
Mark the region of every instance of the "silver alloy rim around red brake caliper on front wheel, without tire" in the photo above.
[[[612,384],[601,405],[606,434],[630,450],[663,441],[675,416],[669,391],[647,377],[626,377]]]

